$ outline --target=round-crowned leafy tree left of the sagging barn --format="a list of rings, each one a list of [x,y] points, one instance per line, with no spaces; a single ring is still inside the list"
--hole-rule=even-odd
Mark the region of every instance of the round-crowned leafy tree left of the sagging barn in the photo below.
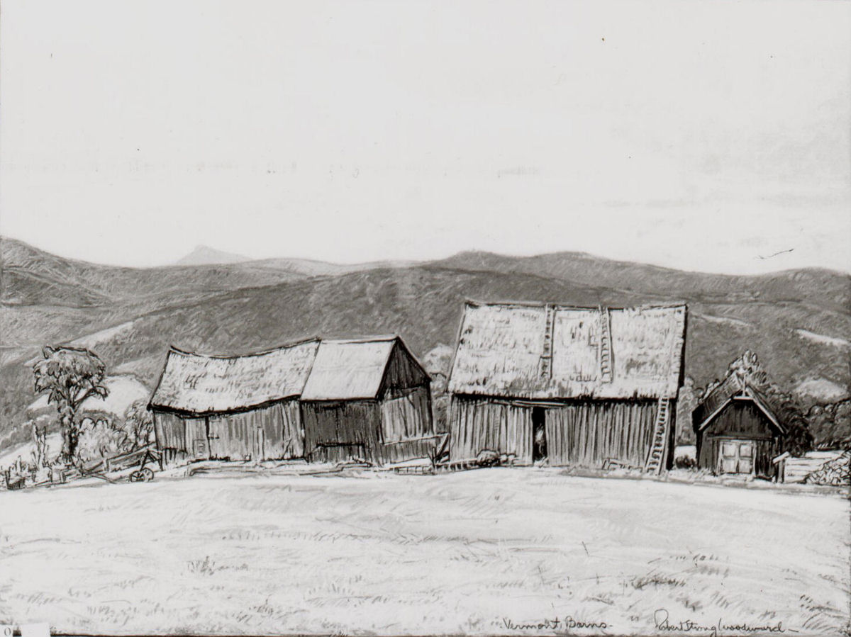
[[[72,463],[80,434],[77,412],[83,401],[91,396],[106,398],[108,392],[102,384],[106,366],[89,350],[48,346],[42,353],[43,360],[32,370],[36,392],[47,393],[48,402],[56,406],[62,431],[61,458]]]

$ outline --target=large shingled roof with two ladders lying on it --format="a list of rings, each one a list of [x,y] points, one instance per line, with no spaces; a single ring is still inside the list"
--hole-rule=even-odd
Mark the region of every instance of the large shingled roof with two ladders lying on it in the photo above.
[[[448,390],[529,399],[674,398],[685,321],[685,304],[468,302]]]

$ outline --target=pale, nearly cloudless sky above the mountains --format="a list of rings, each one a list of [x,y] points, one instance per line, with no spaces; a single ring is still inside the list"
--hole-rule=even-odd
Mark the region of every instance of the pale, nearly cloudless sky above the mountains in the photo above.
[[[851,3],[3,0],[0,233],[851,271]]]

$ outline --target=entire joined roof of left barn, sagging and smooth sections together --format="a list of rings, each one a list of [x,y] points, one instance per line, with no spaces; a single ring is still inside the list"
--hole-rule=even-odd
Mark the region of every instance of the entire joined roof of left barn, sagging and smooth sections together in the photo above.
[[[198,355],[171,348],[150,407],[201,415],[296,396],[306,401],[376,398],[397,345],[421,371],[397,336],[313,338],[243,356]],[[422,378],[427,382],[424,371]]]

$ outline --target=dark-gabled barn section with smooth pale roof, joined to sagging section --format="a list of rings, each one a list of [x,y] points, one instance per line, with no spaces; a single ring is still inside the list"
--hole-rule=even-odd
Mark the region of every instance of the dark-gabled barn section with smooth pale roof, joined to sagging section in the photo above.
[[[323,340],[301,395],[305,456],[374,464],[430,455],[431,378],[401,338]]]

